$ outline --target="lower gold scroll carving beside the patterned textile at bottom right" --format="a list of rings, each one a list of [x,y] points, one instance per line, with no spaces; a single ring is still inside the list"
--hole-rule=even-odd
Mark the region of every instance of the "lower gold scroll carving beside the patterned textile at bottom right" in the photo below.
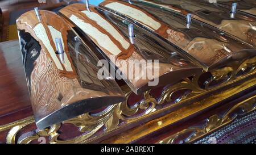
[[[240,109],[240,111],[238,111],[238,109]],[[170,137],[167,137],[164,140],[159,141],[159,143],[161,144],[175,143],[175,140],[178,137],[187,135],[187,133],[191,133],[191,134],[185,137],[183,142],[192,143],[193,141],[200,139],[200,137],[208,135],[209,133],[216,131],[216,129],[233,122],[233,120],[237,118],[238,114],[244,115],[251,111],[254,111],[255,109],[256,109],[256,95],[236,104],[234,107],[230,108],[230,110],[227,111],[222,117],[218,116],[217,114],[210,116],[210,118],[207,119],[207,122],[205,123],[203,128],[193,127],[193,128],[184,129],[183,131],[177,132],[175,135],[172,135]]]

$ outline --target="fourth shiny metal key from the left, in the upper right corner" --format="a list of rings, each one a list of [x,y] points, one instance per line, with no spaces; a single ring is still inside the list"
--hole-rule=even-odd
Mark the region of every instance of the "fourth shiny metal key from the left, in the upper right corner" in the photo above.
[[[216,28],[230,33],[249,44],[256,45],[256,17],[245,14],[241,11],[234,10],[232,6],[225,8],[214,3],[205,3],[199,0],[138,0],[148,3],[148,5],[163,7],[163,9],[171,12],[179,12],[181,14],[192,14],[192,18],[201,22],[210,24]],[[234,3],[233,8],[236,8]]]

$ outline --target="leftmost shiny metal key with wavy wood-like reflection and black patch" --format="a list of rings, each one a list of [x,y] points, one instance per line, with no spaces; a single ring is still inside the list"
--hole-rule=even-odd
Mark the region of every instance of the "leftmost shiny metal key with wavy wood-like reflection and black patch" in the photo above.
[[[113,79],[98,79],[98,58],[51,11],[28,11],[16,20],[28,90],[38,128],[125,100]],[[61,40],[64,62],[58,57]],[[57,39],[57,40],[58,40]]]

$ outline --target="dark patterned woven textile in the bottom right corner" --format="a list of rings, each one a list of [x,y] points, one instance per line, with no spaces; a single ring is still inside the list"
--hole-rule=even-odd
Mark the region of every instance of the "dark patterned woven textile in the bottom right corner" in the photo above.
[[[256,111],[235,119],[196,144],[256,144]]]

